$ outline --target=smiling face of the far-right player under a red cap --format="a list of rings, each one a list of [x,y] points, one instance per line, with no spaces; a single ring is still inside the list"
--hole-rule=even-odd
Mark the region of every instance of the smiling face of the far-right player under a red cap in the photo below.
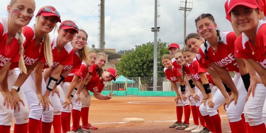
[[[245,6],[236,6],[232,9],[231,20],[240,32],[249,32],[256,29],[261,12]]]

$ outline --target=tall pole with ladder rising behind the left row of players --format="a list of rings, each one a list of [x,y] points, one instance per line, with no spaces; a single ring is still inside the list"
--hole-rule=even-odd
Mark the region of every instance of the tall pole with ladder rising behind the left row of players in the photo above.
[[[104,0],[100,1],[101,4],[98,4],[98,48],[100,48],[100,52],[104,52]]]

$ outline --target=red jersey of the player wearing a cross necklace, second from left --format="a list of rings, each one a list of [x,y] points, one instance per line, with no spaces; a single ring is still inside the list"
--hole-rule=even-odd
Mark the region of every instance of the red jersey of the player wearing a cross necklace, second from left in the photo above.
[[[35,26],[29,25],[24,26],[22,28],[22,33],[25,36],[25,43],[24,43],[24,54],[23,59],[25,66],[28,67],[32,64],[34,64],[37,60],[45,60],[44,57],[44,40],[42,40],[38,47],[35,46]],[[52,41],[50,41],[50,45],[52,44]],[[14,69],[18,67],[18,62],[14,62],[11,64],[10,69]]]

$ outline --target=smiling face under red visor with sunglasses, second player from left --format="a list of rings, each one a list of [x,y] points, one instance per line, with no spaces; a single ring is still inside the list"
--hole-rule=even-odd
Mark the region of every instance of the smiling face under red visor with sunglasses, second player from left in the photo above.
[[[50,33],[57,23],[57,18],[55,16],[44,17],[39,15],[36,19],[37,29],[43,33]]]

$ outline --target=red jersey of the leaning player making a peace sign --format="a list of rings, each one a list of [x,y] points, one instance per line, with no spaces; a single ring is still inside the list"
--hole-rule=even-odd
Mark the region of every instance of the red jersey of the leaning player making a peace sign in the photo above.
[[[105,86],[105,82],[102,81],[98,75],[94,75],[90,82],[86,85],[86,90],[89,90],[92,93],[98,92],[101,93]]]

